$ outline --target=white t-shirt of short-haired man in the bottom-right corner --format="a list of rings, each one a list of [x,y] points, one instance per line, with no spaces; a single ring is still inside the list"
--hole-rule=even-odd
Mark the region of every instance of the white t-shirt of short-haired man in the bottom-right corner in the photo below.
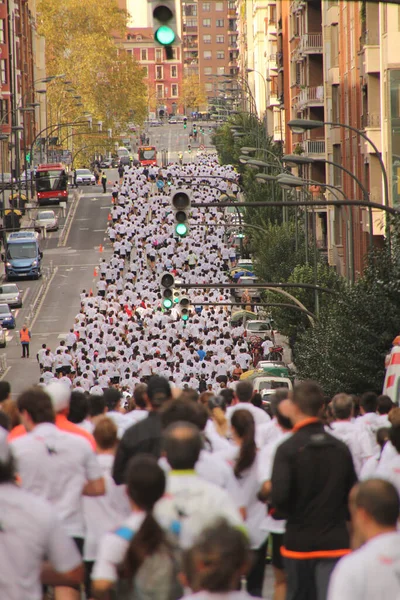
[[[400,598],[400,533],[378,535],[342,558],[332,573],[328,600]]]

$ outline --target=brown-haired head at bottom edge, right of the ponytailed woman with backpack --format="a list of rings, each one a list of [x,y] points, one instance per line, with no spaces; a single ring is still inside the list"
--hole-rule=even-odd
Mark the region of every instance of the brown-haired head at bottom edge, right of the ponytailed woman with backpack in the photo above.
[[[183,555],[186,582],[193,592],[234,591],[250,564],[247,537],[223,519],[204,529]]]

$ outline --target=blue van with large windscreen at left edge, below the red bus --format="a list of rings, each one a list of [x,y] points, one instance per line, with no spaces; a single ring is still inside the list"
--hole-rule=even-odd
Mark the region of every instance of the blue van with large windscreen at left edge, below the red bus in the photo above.
[[[7,281],[22,277],[39,279],[42,258],[39,236],[35,231],[10,233],[6,237],[5,252],[1,255]]]

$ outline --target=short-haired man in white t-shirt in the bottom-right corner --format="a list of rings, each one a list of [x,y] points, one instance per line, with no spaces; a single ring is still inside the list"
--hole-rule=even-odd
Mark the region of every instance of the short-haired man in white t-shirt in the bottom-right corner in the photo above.
[[[381,479],[356,485],[350,512],[357,545],[335,567],[328,600],[376,600],[400,597],[399,496]]]

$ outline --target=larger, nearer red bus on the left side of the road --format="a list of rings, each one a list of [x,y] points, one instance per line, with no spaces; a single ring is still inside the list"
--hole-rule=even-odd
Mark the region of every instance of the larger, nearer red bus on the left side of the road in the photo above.
[[[68,201],[68,175],[62,163],[39,165],[35,184],[39,206]]]

